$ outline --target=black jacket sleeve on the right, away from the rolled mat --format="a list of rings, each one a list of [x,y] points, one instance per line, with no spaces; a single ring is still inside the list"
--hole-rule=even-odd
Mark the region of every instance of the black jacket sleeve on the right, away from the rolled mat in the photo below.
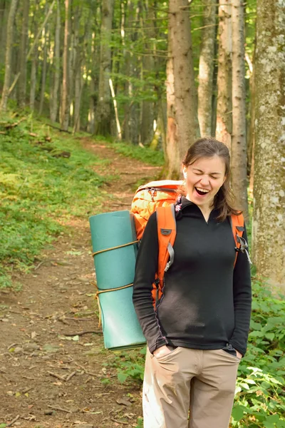
[[[243,238],[247,241],[247,230],[244,226]],[[247,254],[239,252],[234,267],[234,332],[230,345],[242,355],[247,350],[249,322],[252,310],[252,284],[250,265]]]

